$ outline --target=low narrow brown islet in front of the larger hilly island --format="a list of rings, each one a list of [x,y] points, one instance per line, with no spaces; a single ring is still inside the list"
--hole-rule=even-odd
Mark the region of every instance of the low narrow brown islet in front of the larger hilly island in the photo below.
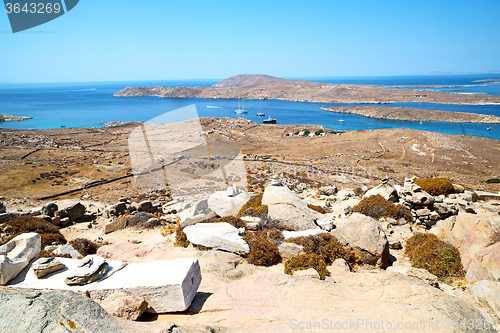
[[[407,121],[443,121],[454,123],[499,124],[500,117],[469,112],[452,112],[440,110],[424,110],[405,107],[379,106],[342,106],[321,108],[336,113],[358,114],[376,119],[407,120]]]

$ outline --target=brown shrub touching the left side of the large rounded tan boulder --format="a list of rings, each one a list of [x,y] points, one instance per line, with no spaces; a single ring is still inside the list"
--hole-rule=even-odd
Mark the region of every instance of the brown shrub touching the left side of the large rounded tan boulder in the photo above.
[[[294,237],[286,241],[302,245],[306,254],[317,255],[326,264],[330,264],[338,258],[343,258],[346,262],[352,264],[357,262],[356,255],[351,249],[343,246],[335,236],[329,233]]]

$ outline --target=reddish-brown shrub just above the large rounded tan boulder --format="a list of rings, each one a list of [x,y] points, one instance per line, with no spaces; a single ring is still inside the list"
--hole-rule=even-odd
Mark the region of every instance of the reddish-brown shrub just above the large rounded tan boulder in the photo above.
[[[396,220],[404,218],[408,222],[411,222],[412,220],[410,210],[402,205],[396,205],[390,201],[387,201],[380,194],[372,195],[361,200],[356,206],[352,208],[352,210],[353,212],[370,216],[374,219],[379,219],[381,217],[391,217]]]

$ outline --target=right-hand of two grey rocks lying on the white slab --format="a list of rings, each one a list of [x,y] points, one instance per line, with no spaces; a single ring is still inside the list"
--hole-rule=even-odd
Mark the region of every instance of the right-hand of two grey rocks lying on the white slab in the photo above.
[[[102,278],[109,269],[109,264],[104,258],[87,256],[78,262],[77,268],[66,275],[68,286],[82,286]]]

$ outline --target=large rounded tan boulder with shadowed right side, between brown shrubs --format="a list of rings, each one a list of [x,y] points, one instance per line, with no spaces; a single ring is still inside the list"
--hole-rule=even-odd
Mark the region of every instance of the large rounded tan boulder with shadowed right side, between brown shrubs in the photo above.
[[[378,223],[371,217],[354,213],[335,220],[332,235],[344,244],[350,244],[362,263],[387,267],[389,264],[389,242]]]

